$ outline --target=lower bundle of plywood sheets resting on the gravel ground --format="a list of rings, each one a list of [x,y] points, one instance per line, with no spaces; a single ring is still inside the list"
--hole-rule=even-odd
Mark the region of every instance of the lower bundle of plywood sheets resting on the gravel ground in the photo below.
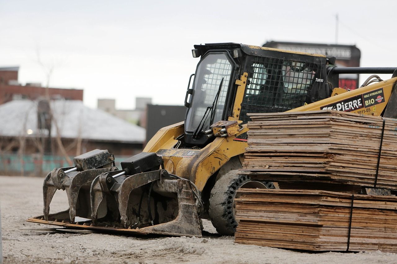
[[[395,196],[240,189],[235,201],[237,243],[311,251],[397,252]]]

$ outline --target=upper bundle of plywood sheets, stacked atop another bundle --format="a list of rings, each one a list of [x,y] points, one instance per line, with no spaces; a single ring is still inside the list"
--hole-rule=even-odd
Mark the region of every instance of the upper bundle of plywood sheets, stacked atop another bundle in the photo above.
[[[255,180],[397,189],[397,119],[331,110],[251,119],[243,173]]]

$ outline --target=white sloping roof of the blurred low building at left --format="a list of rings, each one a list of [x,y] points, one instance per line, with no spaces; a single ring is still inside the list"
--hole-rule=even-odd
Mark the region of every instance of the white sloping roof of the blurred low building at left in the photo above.
[[[37,101],[13,100],[0,105],[0,136],[37,136]],[[51,135],[56,137],[57,122],[62,138],[143,143],[145,128],[91,109],[78,100],[51,101],[53,113]],[[30,131],[33,130],[33,131]]]

